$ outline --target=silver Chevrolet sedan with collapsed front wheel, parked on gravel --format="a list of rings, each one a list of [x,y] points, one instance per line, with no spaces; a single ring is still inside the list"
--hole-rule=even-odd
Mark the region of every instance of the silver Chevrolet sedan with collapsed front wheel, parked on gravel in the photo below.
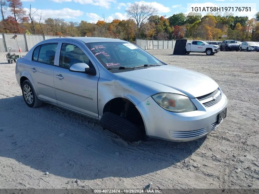
[[[214,80],[124,40],[44,40],[17,60],[15,74],[29,107],[57,105],[130,142],[198,139],[227,113],[227,97]]]

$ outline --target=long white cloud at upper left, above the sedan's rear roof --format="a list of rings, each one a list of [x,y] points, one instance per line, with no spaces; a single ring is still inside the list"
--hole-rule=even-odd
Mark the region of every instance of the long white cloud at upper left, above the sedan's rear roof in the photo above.
[[[28,8],[24,8],[26,13],[29,14],[29,9]],[[37,9],[36,8],[32,8],[32,12],[35,12]],[[82,16],[84,14],[84,12],[80,11],[80,10],[71,10],[69,8],[63,8],[60,10],[51,10],[51,9],[46,9],[46,10],[37,10],[37,13],[42,12],[42,17],[43,18],[60,18],[60,19],[76,19],[76,17]],[[34,19],[38,19],[39,16],[38,15],[33,15]]]

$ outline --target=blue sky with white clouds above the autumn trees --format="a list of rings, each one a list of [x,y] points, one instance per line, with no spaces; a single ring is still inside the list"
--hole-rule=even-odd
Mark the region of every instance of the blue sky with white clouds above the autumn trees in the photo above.
[[[258,0],[21,0],[27,13],[31,4],[32,11],[37,13],[42,12],[43,18],[60,18],[66,21],[80,22],[82,20],[96,23],[98,20],[103,20],[103,15],[108,22],[113,19],[127,19],[125,9],[134,2],[152,5],[157,8],[157,15],[169,17],[175,13],[188,14],[191,7],[196,4],[200,6],[251,6],[249,12],[234,12],[234,15],[248,16],[249,19],[254,17],[254,14],[259,11]],[[258,1],[258,3],[257,3]],[[218,4],[220,3],[220,4]],[[242,3],[242,4],[238,4]],[[249,4],[253,3],[253,4]],[[257,3],[255,5],[255,3]],[[189,8],[189,9],[187,9]],[[200,12],[205,15],[207,12]],[[8,14],[8,12],[6,13]],[[37,19],[37,15],[34,17]]]

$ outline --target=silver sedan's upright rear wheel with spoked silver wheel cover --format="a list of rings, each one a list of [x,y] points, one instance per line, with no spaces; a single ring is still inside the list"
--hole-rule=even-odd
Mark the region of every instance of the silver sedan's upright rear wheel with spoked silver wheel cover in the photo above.
[[[32,87],[31,82],[29,81],[29,79],[25,80],[22,83],[21,91],[22,91],[23,99],[27,106],[29,106],[31,108],[36,108],[36,107],[39,107],[40,105],[42,105],[42,102],[36,96],[36,93]],[[28,95],[26,95],[26,93],[28,93],[28,92],[31,94],[29,97],[28,97]],[[28,97],[27,100],[26,100],[26,97]]]

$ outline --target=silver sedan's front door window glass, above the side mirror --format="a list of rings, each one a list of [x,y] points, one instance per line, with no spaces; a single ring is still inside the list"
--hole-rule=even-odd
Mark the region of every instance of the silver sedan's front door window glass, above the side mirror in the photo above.
[[[86,54],[76,45],[63,43],[60,56],[59,56],[59,67],[69,69],[69,67],[75,63],[86,63],[89,67],[91,61]]]

